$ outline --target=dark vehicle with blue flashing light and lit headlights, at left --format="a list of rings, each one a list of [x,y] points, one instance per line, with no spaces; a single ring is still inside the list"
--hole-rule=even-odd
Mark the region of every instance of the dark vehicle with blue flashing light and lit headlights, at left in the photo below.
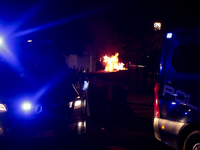
[[[53,48],[27,44],[9,53],[0,47],[0,142],[85,133],[86,104],[64,57]]]

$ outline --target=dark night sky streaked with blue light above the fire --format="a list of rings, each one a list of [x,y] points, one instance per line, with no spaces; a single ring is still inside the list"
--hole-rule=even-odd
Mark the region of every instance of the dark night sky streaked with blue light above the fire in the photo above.
[[[118,49],[119,37],[134,36],[138,40],[151,34],[155,21],[167,31],[199,24],[199,14],[197,2],[189,1],[8,0],[0,2],[0,35],[53,39],[74,51],[83,50],[85,44]]]

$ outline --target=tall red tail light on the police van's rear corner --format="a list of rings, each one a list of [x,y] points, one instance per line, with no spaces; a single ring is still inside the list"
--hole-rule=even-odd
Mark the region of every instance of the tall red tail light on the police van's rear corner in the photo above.
[[[159,90],[160,90],[160,83],[156,83],[154,87],[154,117],[160,117],[160,110],[159,110]]]

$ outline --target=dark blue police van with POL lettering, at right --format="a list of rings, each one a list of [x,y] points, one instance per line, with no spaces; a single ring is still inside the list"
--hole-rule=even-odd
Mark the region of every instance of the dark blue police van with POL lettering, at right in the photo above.
[[[175,149],[200,149],[200,28],[179,28],[163,43],[154,88],[154,134]]]

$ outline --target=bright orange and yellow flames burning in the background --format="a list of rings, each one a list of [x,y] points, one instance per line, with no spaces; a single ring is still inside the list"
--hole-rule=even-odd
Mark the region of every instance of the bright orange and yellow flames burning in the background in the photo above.
[[[124,64],[118,62],[118,56],[119,53],[116,53],[111,57],[108,57],[107,55],[103,57],[103,62],[106,64],[105,71],[125,70]]]

